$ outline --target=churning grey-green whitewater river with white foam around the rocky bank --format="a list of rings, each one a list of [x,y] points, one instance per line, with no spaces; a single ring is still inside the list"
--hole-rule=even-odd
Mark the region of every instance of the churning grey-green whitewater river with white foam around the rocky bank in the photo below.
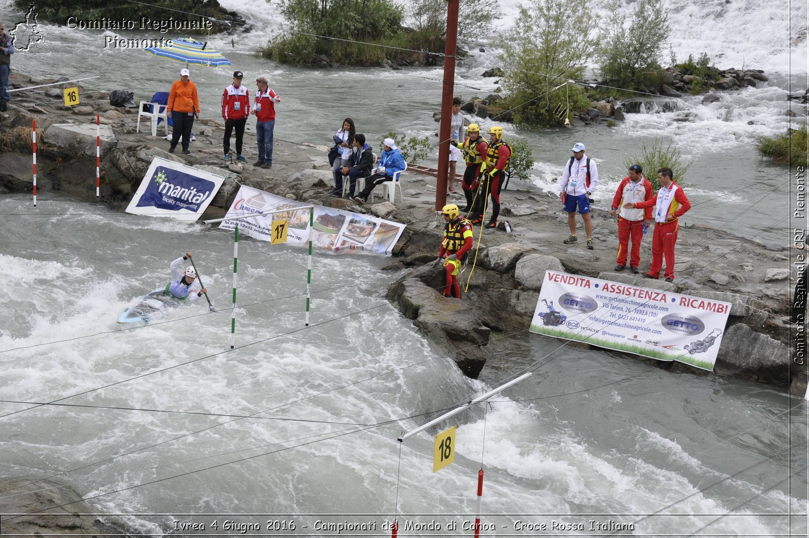
[[[269,75],[285,97],[276,127],[282,139],[328,145],[346,116],[372,143],[388,130],[438,130],[440,70],[277,66],[251,52],[283,26],[273,5],[223,3],[266,33],[238,35],[232,49],[229,37],[212,39],[235,67],[194,68],[205,116],[218,117],[222,88],[238,68],[246,80]],[[760,160],[753,144],[789,125],[790,84],[792,92],[806,89],[805,41],[784,47],[786,3],[676,4],[671,13],[683,29],[672,41],[680,58],[711,52],[728,36],[727,63],[718,65],[760,67],[770,83],[713,105],[688,96],[680,112],[630,115],[613,129],[507,126],[506,134],[532,144],[534,181],[546,188],[575,141],[587,143],[605,176],[623,176],[625,154],[655,136],[671,140],[694,160],[690,222],[786,245],[789,170]],[[506,4],[511,15],[515,5]],[[806,6],[793,9],[806,19]],[[9,28],[19,14],[2,0],[0,17]],[[16,69],[99,75],[91,88],[128,88],[146,99],[166,90],[180,68],[141,50],[102,49],[100,32],[44,30],[48,45],[15,55]],[[486,46],[459,68],[459,83],[481,90],[459,85],[458,93],[495,88],[494,79],[480,78],[497,62]],[[686,111],[692,121],[676,122]],[[616,182],[605,184],[611,195]],[[40,200],[34,211],[28,195],[0,198],[0,478],[60,480],[91,497],[105,521],[144,534],[238,536],[244,525],[260,524],[264,530],[245,533],[255,535],[269,522],[274,535],[333,535],[320,520],[376,521],[375,532],[389,536],[382,524],[398,514],[403,525],[442,526],[400,536],[471,536],[463,527],[474,518],[482,464],[484,536],[807,535],[807,408],[783,387],[671,374],[528,333],[492,344],[494,357],[472,381],[384,298],[394,277],[381,270],[385,258],[316,252],[311,326],[304,327],[306,250],[250,240],[239,246],[231,350],[229,233],[58,194]],[[121,311],[163,285],[168,263],[187,250],[226,314],[200,302],[121,331]],[[531,378],[490,406],[446,424],[458,426],[447,468],[432,472],[438,430],[396,442],[434,416],[426,413],[527,370]],[[56,400],[65,405],[23,411],[31,405],[13,403]],[[226,529],[225,521],[235,523]],[[191,523],[205,530],[179,530]]]

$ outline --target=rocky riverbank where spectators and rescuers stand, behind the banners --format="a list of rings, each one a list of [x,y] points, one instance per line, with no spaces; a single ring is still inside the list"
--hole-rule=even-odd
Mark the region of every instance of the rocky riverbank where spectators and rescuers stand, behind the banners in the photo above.
[[[12,87],[53,81],[33,81],[15,74]],[[434,212],[435,179],[404,176],[404,200],[357,206],[326,194],[331,186],[328,147],[276,139],[272,169],[249,164],[220,166],[222,125],[205,120],[195,125],[192,155],[167,152],[169,143],[148,132],[135,132],[137,111],[118,109],[104,92],[84,92],[83,107],[69,108],[49,89],[15,92],[9,111],[0,113],[0,192],[31,191],[31,125],[38,134],[40,200],[61,192],[95,201],[95,113],[102,114],[102,174],[100,203],[123,210],[154,156],[184,162],[227,175],[205,218],[222,216],[231,203],[237,180],[248,186],[307,203],[371,212],[408,224],[387,268],[397,273],[388,298],[431,340],[445,349],[469,377],[477,377],[493,335],[525,331],[532,319],[544,272],[567,271],[646,288],[662,288],[733,304],[722,338],[715,374],[789,384],[803,394],[807,366],[790,361],[793,333],[782,321],[789,314],[797,275],[790,271],[790,246],[769,245],[736,237],[682,219],[677,246],[676,283],[614,273],[616,222],[606,198],[594,203],[595,250],[583,244],[565,246],[566,216],[557,199],[521,181],[511,180],[503,191],[499,228],[482,233],[477,264],[463,301],[445,299],[438,271],[425,267],[435,258],[442,220]],[[61,88],[59,96],[61,97]],[[49,96],[53,94],[54,96]],[[282,122],[283,119],[279,118]],[[148,129],[148,126],[147,126]],[[254,160],[252,134],[246,134],[245,155]],[[91,181],[92,180],[92,181]],[[603,195],[606,196],[606,195]],[[462,202],[456,194],[451,201]],[[43,203],[44,205],[44,203]],[[510,223],[506,233],[503,221]],[[476,234],[479,230],[476,231]],[[476,237],[476,241],[478,239]],[[642,249],[641,269],[649,267],[650,240]],[[464,274],[464,284],[472,264]],[[580,345],[580,344],[577,344]],[[626,355],[627,360],[637,357]],[[650,361],[661,368],[692,375],[711,375],[679,363]]]

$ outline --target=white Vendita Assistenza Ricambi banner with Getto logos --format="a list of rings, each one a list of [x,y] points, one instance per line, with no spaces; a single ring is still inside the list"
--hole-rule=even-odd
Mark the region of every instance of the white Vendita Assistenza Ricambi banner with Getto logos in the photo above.
[[[548,271],[531,331],[713,370],[731,303]]]

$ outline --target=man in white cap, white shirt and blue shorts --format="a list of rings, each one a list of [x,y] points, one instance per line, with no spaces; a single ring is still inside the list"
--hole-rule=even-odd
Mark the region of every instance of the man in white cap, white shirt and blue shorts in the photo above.
[[[573,156],[565,164],[559,181],[559,193],[564,210],[567,213],[567,226],[570,237],[562,241],[570,245],[578,241],[576,238],[576,209],[584,220],[584,231],[587,233],[587,248],[593,250],[593,222],[590,219],[590,195],[599,184],[599,170],[595,161],[584,155],[584,144],[577,142],[571,148]]]

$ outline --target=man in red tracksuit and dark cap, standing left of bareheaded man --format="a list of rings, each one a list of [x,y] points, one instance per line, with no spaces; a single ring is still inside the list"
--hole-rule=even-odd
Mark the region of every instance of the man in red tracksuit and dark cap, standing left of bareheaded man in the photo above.
[[[621,207],[625,202],[646,202],[652,199],[652,184],[646,177],[643,177],[643,169],[640,164],[633,164],[629,167],[629,176],[621,181],[615,197],[612,199],[612,209],[609,214],[615,216],[620,209],[618,216],[618,259],[615,266],[616,271],[622,271],[626,267],[626,254],[629,250],[629,237],[632,237],[632,254],[629,257],[629,267],[632,272],[640,272],[637,266],[641,264],[641,240],[643,230],[652,222],[652,208],[626,209]]]

